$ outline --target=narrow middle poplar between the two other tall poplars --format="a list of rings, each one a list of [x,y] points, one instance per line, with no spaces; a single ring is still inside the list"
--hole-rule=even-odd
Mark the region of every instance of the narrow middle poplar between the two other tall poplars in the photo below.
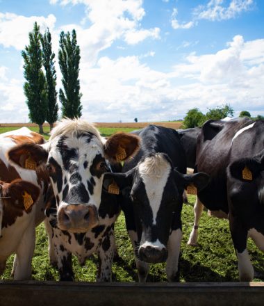
[[[43,65],[46,72],[47,81],[47,117],[50,129],[53,128],[53,123],[58,120],[58,103],[56,91],[56,69],[55,69],[55,54],[51,47],[51,33],[49,28],[41,37]]]

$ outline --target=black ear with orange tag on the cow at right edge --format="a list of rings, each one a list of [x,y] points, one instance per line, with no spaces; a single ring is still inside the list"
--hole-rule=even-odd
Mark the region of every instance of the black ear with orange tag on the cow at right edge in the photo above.
[[[228,174],[243,182],[251,182],[261,171],[264,170],[264,163],[259,159],[238,159],[229,165]]]

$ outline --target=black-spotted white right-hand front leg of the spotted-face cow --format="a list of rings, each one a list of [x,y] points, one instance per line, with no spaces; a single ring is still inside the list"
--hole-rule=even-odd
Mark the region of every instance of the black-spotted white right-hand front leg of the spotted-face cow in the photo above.
[[[113,227],[105,234],[106,236],[101,242],[98,252],[99,266],[97,271],[97,282],[110,282],[112,280],[112,264],[115,254]]]

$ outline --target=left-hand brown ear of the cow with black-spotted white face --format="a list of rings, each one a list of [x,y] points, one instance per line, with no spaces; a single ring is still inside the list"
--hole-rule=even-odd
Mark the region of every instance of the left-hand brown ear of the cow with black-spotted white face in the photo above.
[[[7,157],[11,163],[25,169],[35,170],[40,164],[47,162],[48,152],[42,145],[23,143],[9,150]]]

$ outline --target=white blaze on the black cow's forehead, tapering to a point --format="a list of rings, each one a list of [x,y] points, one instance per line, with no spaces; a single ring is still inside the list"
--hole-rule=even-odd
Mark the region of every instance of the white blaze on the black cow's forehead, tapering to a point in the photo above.
[[[172,166],[164,158],[163,154],[149,156],[138,166],[138,172],[145,184],[147,198],[153,214],[154,225],[156,225],[156,216],[171,170]]]

